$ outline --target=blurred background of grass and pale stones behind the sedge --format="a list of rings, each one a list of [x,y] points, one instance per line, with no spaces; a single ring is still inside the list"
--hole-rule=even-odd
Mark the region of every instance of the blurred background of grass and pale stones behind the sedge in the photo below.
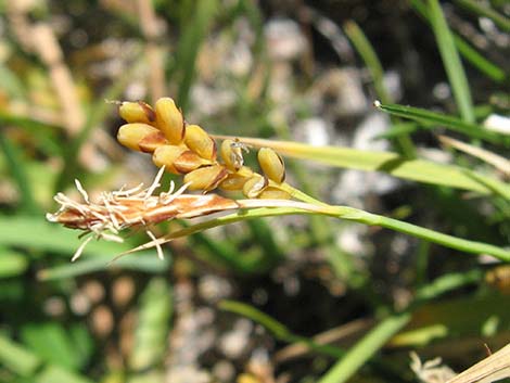
[[[463,46],[475,122],[508,135],[510,4],[442,8]],[[315,382],[417,290],[459,275],[458,289],[409,311],[350,381],[444,382],[449,368],[485,357],[484,344],[508,343],[510,270],[404,234],[279,217],[175,241],[165,260],[143,251],[107,265],[146,242],[135,233],[93,242],[71,264],[79,233],[44,219],[55,192],[79,197],[75,178],[92,199],[151,183],[151,158],[115,140],[124,123],[112,101],[164,95],[209,133],[411,151],[508,180],[508,169],[442,146],[441,127],[419,129],[372,106],[457,114],[428,10],[418,0],[0,1],[0,381]],[[497,195],[286,166],[289,182],[321,201],[509,244],[510,208]],[[327,346],[295,343],[311,339]],[[410,350],[448,367],[429,373],[415,359],[410,368]]]

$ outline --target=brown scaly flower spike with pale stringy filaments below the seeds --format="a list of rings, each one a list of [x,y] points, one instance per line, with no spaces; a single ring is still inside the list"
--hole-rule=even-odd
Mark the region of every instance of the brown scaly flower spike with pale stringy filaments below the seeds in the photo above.
[[[76,181],[76,187],[81,193],[82,202],[58,193],[54,200],[61,207],[56,213],[48,214],[47,219],[67,228],[84,230],[85,234],[92,233],[92,237],[89,237],[75,253],[73,260],[79,257],[85,245],[92,238],[123,242],[118,234],[125,229],[148,229],[152,225],[174,218],[194,218],[239,208],[234,200],[217,194],[184,194],[187,184],[176,192],[171,184],[168,192],[153,195],[160,187],[164,169],[165,167],[162,167],[153,184],[146,189],[138,186],[129,190],[123,188],[114,192],[103,192],[97,202],[89,200],[78,181]],[[152,238],[150,231],[148,234]]]

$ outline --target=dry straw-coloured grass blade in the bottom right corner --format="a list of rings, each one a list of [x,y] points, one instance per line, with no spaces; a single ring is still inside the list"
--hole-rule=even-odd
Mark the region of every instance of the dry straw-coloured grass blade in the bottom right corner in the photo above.
[[[446,383],[492,383],[510,376],[510,344]]]

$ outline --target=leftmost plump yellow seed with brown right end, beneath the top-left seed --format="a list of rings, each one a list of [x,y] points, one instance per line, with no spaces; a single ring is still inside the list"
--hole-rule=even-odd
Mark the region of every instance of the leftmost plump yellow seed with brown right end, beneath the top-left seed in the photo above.
[[[157,146],[167,143],[160,130],[142,123],[123,125],[118,129],[117,140],[139,152],[153,152]]]

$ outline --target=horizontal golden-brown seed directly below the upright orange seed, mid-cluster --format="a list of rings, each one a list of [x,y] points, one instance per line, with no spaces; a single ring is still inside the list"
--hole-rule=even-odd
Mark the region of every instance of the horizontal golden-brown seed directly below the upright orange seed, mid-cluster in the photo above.
[[[154,151],[152,161],[157,167],[165,165],[165,169],[176,175],[190,173],[201,166],[209,164],[197,154],[184,146],[163,145]]]

